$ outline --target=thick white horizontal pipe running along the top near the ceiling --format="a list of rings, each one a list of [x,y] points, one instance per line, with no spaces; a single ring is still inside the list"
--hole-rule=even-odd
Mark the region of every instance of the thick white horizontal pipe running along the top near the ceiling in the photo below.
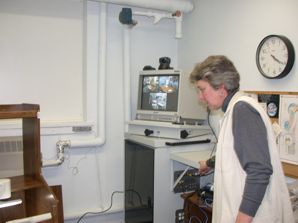
[[[139,7],[145,9],[155,9],[165,12],[180,11],[183,13],[193,10],[193,3],[188,0],[92,0],[105,3]]]

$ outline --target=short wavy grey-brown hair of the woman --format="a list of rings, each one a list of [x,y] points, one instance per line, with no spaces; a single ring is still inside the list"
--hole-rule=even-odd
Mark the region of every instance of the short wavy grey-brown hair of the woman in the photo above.
[[[190,81],[199,80],[207,81],[215,90],[223,84],[227,92],[239,90],[239,73],[226,56],[209,56],[203,62],[197,63],[190,73]]]

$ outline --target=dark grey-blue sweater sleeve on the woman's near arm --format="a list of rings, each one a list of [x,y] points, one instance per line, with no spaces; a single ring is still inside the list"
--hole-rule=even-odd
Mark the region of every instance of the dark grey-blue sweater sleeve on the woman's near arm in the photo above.
[[[250,104],[239,101],[233,109],[234,150],[246,180],[239,211],[255,216],[273,172],[262,117]]]

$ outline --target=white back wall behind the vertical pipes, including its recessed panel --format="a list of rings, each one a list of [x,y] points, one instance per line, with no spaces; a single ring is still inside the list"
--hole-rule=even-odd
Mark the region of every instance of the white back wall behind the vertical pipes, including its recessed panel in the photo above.
[[[99,5],[94,1],[0,1],[0,103],[40,104],[41,125],[50,122],[53,131],[58,123],[94,123],[91,134],[41,133],[44,159],[55,158],[55,144],[59,140],[97,135]],[[63,210],[68,219],[71,216],[78,219],[89,211],[106,210],[111,205],[112,193],[123,191],[123,25],[118,20],[122,7],[108,4],[106,143],[93,149],[66,148],[69,159],[59,167],[42,169],[49,185],[62,185]],[[170,57],[171,66],[176,68],[177,40],[174,20],[164,19],[153,25],[153,18],[133,16],[133,19],[138,21],[131,30],[134,118],[139,70],[145,65],[157,69],[163,56]],[[14,85],[10,86],[11,83]],[[113,214],[84,218],[80,222],[119,223],[123,220],[122,204],[123,195],[116,193]]]

